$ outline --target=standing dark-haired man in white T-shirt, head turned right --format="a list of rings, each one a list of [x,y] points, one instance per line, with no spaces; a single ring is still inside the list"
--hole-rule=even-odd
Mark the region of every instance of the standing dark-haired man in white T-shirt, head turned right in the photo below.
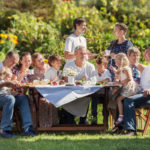
[[[86,30],[86,21],[83,18],[76,18],[74,20],[74,33],[71,34],[65,42],[65,59],[66,62],[72,61],[75,59],[75,48],[79,45],[85,47],[87,49],[87,42],[84,36],[82,34]],[[91,55],[91,52],[89,50],[86,51],[86,59],[93,59],[96,54]]]

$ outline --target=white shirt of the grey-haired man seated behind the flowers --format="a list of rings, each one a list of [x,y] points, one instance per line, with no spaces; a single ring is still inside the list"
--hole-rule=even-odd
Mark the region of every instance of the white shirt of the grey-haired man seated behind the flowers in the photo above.
[[[66,63],[63,69],[63,76],[65,76],[64,70],[66,68],[73,68],[77,71],[78,74],[75,76],[75,80],[81,80],[83,76],[86,76],[86,79],[89,79],[92,77],[92,72],[95,71],[94,65],[89,63],[88,61],[85,62],[85,65],[83,67],[78,67],[75,64],[75,61]]]

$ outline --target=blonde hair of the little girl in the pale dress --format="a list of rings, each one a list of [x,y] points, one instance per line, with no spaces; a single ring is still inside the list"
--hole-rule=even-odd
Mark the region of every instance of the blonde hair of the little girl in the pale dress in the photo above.
[[[121,62],[121,68],[129,66],[129,60],[126,54],[119,53],[115,56],[115,60],[119,60]]]

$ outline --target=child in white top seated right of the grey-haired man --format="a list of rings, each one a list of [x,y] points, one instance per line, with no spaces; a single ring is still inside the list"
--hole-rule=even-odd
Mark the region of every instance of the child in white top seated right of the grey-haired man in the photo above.
[[[92,73],[92,76],[96,78],[99,83],[110,82],[111,74],[107,69],[108,61],[105,57],[99,57],[96,59],[97,70]],[[100,97],[99,94],[103,94],[104,91],[100,90],[95,96],[92,96],[92,124],[97,124],[97,104],[99,101],[104,104],[104,98]]]

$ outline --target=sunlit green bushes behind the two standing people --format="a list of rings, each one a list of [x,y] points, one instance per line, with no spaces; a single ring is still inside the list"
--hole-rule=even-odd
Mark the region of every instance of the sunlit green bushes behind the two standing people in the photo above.
[[[0,12],[0,33],[16,35],[16,49],[20,53],[64,56],[64,42],[73,32],[76,17],[87,20],[85,37],[92,52],[101,54],[108,47],[114,39],[113,28],[117,22],[128,25],[127,38],[142,54],[150,44],[149,0],[88,0],[79,7],[75,1],[31,0],[18,5],[15,2],[15,9],[10,7]]]

